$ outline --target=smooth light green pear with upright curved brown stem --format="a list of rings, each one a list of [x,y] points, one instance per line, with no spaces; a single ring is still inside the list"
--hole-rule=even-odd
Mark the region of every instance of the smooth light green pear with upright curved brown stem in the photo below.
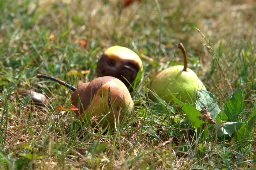
[[[184,66],[172,66],[159,72],[150,83],[149,89],[154,91],[161,99],[173,103],[170,92],[178,100],[184,103],[190,103],[196,99],[196,90],[206,87],[197,77],[196,73],[187,68],[187,54],[182,43],[178,45],[184,56]],[[169,92],[170,91],[170,92]],[[151,95],[153,101],[157,99]]]

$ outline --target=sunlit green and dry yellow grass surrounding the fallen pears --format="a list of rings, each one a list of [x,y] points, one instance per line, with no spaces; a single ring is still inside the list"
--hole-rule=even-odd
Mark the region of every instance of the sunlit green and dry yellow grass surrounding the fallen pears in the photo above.
[[[252,0],[142,0],[126,8],[112,0],[2,0],[1,169],[255,169],[255,7]],[[151,75],[183,64],[180,42],[218,108],[228,115],[244,106],[236,120],[226,119],[225,135],[217,125],[196,128],[186,112],[147,98]],[[77,87],[97,77],[97,59],[114,45],[143,58],[144,74],[132,94],[134,116],[96,132],[74,112],[55,109],[71,107],[67,88],[35,76]],[[25,89],[45,94],[46,105],[31,103]]]

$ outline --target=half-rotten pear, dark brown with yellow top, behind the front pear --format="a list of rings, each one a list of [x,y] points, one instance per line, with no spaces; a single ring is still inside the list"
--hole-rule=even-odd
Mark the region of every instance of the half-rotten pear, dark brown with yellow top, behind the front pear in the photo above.
[[[113,76],[120,79],[131,92],[132,88],[128,82],[133,83],[140,68],[142,60],[135,52],[126,47],[113,46],[102,54],[96,71],[98,76]]]

